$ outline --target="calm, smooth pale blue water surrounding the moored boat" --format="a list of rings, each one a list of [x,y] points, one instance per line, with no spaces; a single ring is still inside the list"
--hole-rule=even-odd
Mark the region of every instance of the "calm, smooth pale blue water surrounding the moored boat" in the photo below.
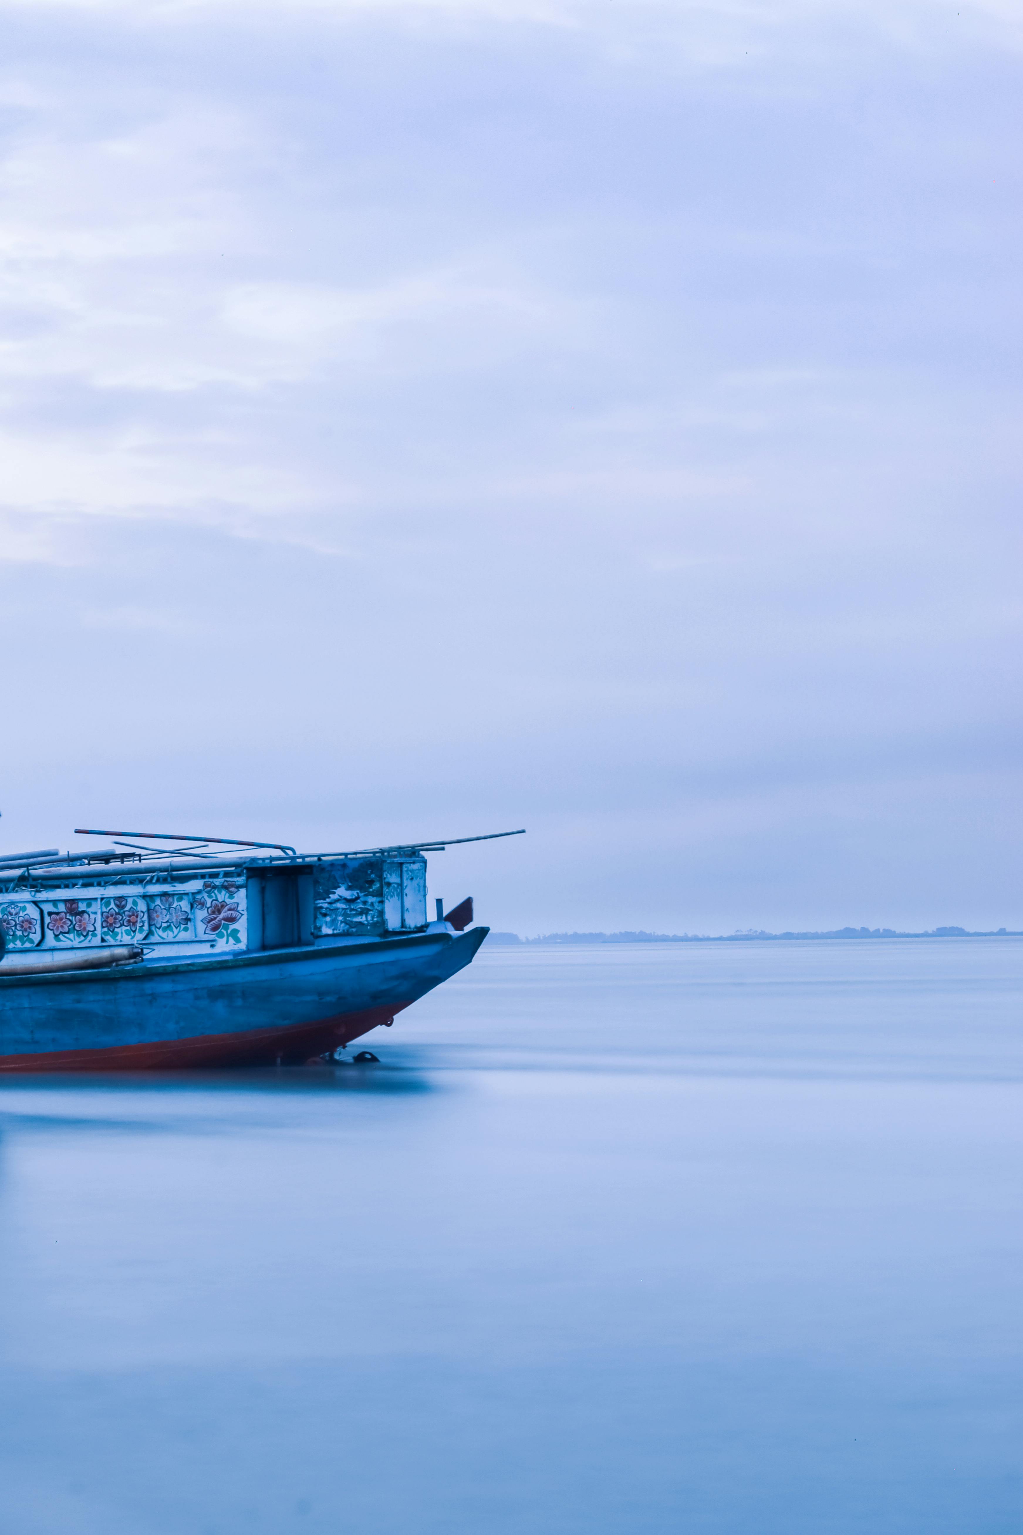
[[[0,1088],[11,1535],[1018,1535],[1023,941],[494,949]]]

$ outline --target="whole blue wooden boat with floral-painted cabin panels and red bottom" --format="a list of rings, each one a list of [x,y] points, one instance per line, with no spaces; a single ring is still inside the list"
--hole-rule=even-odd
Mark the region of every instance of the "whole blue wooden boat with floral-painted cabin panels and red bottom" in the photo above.
[[[100,835],[189,846],[0,858],[0,1071],[301,1062],[391,1024],[489,932],[471,898],[428,921],[423,853],[445,843],[216,857]]]

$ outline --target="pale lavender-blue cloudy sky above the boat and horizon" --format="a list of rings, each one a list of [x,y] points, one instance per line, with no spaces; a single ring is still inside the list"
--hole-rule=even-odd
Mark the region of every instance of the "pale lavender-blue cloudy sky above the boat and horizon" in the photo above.
[[[1023,927],[1023,11],[0,0],[0,849]]]

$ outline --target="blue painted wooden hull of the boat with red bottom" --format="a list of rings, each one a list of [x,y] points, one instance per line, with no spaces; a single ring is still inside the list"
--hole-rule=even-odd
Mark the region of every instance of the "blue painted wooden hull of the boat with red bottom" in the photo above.
[[[469,964],[486,933],[11,976],[0,992],[0,1071],[305,1061],[391,1022]]]

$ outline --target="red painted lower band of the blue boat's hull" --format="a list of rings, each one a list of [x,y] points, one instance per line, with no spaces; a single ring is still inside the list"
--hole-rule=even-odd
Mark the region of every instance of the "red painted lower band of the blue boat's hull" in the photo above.
[[[285,1028],[252,1028],[239,1035],[199,1035],[193,1039],[155,1039],[138,1045],[103,1050],[48,1050],[41,1055],[0,1056],[3,1071],[173,1071],[181,1067],[294,1065],[310,1056],[337,1050],[388,1025],[408,1002],[368,1007],[362,1013],[337,1013],[311,1024]]]

